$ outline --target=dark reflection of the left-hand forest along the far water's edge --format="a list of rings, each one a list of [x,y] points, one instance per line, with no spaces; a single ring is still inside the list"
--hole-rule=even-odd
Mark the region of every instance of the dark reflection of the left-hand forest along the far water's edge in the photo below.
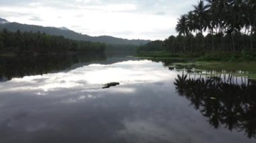
[[[85,58],[86,57],[86,58]],[[13,77],[22,78],[28,75],[57,73],[71,68],[73,64],[105,60],[104,54],[39,55],[39,56],[0,56],[0,82],[9,81]],[[73,67],[75,68],[75,67]]]

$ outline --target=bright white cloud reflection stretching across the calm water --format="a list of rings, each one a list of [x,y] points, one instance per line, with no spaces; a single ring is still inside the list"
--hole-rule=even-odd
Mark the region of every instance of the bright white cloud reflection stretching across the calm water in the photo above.
[[[161,67],[161,68],[160,68]],[[28,76],[22,79],[15,78],[1,83],[1,92],[11,91],[38,91],[37,95],[46,95],[47,91],[59,89],[100,89],[110,82],[119,82],[121,85],[135,83],[155,83],[175,77],[176,73],[164,73],[162,65],[150,60],[125,61],[110,64],[90,64],[75,68],[66,73],[51,73],[47,75]],[[150,73],[150,74],[145,74]],[[121,91],[121,88],[118,88]],[[124,89],[132,92],[134,89]]]

